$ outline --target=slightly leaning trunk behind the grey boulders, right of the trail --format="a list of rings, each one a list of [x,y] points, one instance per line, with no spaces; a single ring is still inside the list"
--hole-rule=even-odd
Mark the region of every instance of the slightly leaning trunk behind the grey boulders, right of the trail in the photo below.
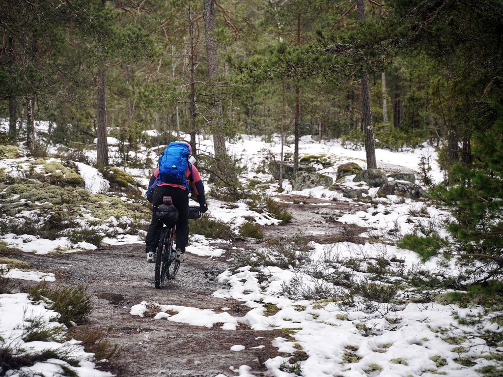
[[[358,20],[365,20],[365,0],[356,1]],[[365,132],[365,152],[367,155],[367,169],[377,169],[374,125],[372,124],[372,110],[370,108],[369,77],[362,78],[362,126]]]

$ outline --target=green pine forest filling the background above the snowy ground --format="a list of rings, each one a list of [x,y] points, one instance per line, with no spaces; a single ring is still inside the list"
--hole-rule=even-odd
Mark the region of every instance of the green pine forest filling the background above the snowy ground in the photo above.
[[[150,167],[135,157],[141,144],[187,133],[200,169],[228,184],[225,141],[239,133],[293,135],[295,170],[304,134],[365,145],[369,168],[375,146],[429,142],[451,232],[498,275],[501,1],[7,0],[0,12],[4,143],[44,156],[43,119],[52,143],[97,138],[98,166],[114,136],[120,166]],[[215,156],[198,156],[198,134],[213,136]]]

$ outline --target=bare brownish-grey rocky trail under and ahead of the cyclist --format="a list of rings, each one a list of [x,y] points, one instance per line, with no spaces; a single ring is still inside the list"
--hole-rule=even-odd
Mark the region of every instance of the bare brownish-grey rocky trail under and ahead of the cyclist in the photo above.
[[[336,236],[341,231],[341,224],[334,222],[333,217],[340,216],[341,212],[362,209],[351,202],[289,196],[282,199],[291,202],[289,210],[293,221],[284,226],[266,227],[269,238],[320,232]],[[313,202],[329,205],[312,205]],[[246,242],[240,242],[239,246],[246,245]],[[164,289],[153,286],[153,264],[145,262],[143,245],[106,246],[92,252],[64,255],[38,256],[13,251],[0,254],[29,261],[32,268],[39,271],[54,272],[56,283],[88,285],[94,305],[89,318],[91,326],[104,329],[107,338],[121,347],[120,356],[112,365],[104,364],[102,369],[111,369],[121,377],[214,377],[219,373],[231,376],[237,373],[229,367],[237,370],[240,365],[250,366],[253,373],[260,376],[266,370],[262,362],[278,355],[271,341],[285,336],[278,330],[253,331],[244,325],[232,331],[222,330],[218,324],[206,328],[154,320],[152,317],[157,311],[143,318],[129,314],[131,306],[145,300],[148,303],[213,309],[215,312],[227,307],[231,315],[243,316],[246,307],[242,302],[211,295],[222,288],[216,276],[228,268],[225,258],[230,252],[217,259],[189,254],[177,278],[168,282]],[[235,344],[244,345],[246,349],[233,352],[230,347]],[[259,345],[265,348],[250,349]]]

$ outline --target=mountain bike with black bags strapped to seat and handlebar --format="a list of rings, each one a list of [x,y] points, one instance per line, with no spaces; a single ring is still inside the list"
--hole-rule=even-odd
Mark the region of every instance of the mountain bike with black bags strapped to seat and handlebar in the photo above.
[[[154,285],[160,289],[168,280],[173,280],[180,267],[180,261],[174,253],[175,235],[178,222],[178,209],[173,205],[171,196],[162,197],[162,204],[157,207],[156,217],[162,221],[164,227],[159,234],[159,242],[155,253]],[[189,218],[201,217],[199,206],[189,206]]]

